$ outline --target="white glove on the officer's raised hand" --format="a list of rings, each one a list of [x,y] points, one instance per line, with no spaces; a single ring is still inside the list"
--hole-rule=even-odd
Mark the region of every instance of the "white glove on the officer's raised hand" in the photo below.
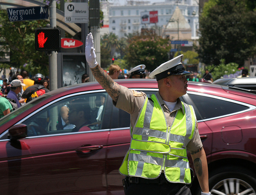
[[[86,57],[86,61],[88,62],[88,65],[91,68],[94,68],[97,66],[98,63],[96,62],[96,54],[95,54],[95,49],[93,44],[92,33],[89,33],[86,37],[85,57]]]

